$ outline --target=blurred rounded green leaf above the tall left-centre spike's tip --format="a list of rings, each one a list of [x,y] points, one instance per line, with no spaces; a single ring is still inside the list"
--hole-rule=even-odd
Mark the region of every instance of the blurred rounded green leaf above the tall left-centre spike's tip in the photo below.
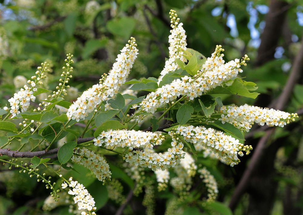
[[[106,28],[115,36],[129,39],[132,31],[135,29],[136,20],[130,17],[122,17],[120,19],[112,19],[106,23]]]

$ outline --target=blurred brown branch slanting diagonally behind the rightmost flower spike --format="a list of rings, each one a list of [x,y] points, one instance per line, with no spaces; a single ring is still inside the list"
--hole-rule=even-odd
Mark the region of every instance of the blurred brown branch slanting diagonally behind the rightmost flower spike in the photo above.
[[[291,74],[288,77],[287,83],[281,95],[277,99],[275,105],[273,106],[273,108],[282,110],[285,107],[302,70],[303,70],[303,41],[300,51],[296,55],[296,58],[293,62]],[[252,173],[254,172],[256,166],[259,164],[261,157],[264,154],[266,143],[274,131],[275,129],[268,130],[266,134],[258,142],[258,145],[255,148],[255,152],[251,157],[251,161],[248,165],[248,168],[245,170],[240,182],[236,187],[234,194],[231,197],[231,201],[229,203],[229,207],[231,208],[231,210],[235,210],[235,207],[237,206],[242,194],[244,194],[245,190],[247,189],[247,185],[249,184],[248,182],[252,176]]]

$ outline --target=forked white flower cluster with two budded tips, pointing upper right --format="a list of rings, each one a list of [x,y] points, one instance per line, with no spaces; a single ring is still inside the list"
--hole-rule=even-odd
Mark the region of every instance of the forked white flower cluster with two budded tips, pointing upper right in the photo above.
[[[203,68],[194,77],[182,77],[181,80],[174,80],[158,88],[156,92],[151,92],[140,103],[143,111],[154,113],[157,108],[162,107],[165,103],[175,100],[178,96],[188,96],[190,100],[201,96],[203,92],[211,90],[222,83],[235,78],[243,70],[241,65],[245,65],[245,60],[249,60],[247,55],[243,60],[235,59],[226,64],[221,54],[224,49],[221,45],[216,47],[211,57],[208,57]]]

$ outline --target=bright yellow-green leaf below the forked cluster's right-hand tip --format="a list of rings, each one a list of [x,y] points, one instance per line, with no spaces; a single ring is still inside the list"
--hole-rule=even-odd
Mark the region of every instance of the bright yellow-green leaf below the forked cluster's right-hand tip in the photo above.
[[[255,99],[260,93],[256,93],[256,92],[251,93],[248,91],[249,89],[254,89],[254,90],[257,89],[256,87],[254,87],[255,85],[252,86],[251,83],[252,82],[246,82],[241,80],[240,78],[237,78],[234,80],[231,86],[227,87],[227,89],[231,91],[233,94]]]

